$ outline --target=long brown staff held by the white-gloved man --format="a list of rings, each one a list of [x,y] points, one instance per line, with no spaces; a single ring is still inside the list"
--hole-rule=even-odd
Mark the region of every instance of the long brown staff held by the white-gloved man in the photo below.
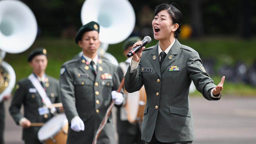
[[[121,89],[122,89],[123,86],[124,86],[124,77],[123,77],[123,79],[122,79],[122,81],[121,81],[121,83],[120,83],[120,85],[119,85],[119,87],[118,87],[118,89],[117,89],[116,92],[119,93],[119,92],[121,91]],[[106,111],[106,114],[105,114],[103,120],[101,121],[100,126],[99,126],[99,128],[98,128],[98,130],[97,130],[97,132],[96,132],[96,134],[95,134],[95,137],[94,137],[94,139],[93,139],[92,144],[96,144],[96,143],[97,143],[97,140],[98,140],[98,138],[99,138],[100,132],[102,131],[102,129],[103,129],[104,126],[106,125],[106,123],[107,123],[107,121],[108,121],[108,117],[109,117],[109,115],[111,114],[111,110],[112,110],[112,108],[113,108],[113,106],[114,106],[114,104],[115,104],[114,102],[115,102],[115,100],[113,100],[113,101],[110,103],[110,105],[109,105],[109,107],[108,107],[108,109],[107,109],[107,111]]]

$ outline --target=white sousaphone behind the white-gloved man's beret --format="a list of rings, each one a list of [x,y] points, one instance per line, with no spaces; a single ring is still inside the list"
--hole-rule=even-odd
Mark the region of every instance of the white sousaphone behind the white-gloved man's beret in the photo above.
[[[108,44],[119,43],[132,33],[135,12],[128,0],[86,0],[81,10],[82,24],[91,21],[100,25],[101,45],[98,55],[118,66],[116,58],[107,51]]]

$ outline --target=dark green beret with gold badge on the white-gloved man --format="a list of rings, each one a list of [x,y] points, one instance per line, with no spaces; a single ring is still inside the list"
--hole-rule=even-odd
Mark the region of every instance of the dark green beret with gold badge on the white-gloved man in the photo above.
[[[96,31],[98,31],[98,33],[99,33],[99,32],[100,32],[100,26],[99,26],[99,24],[92,21],[92,22],[89,22],[89,23],[83,25],[83,26],[78,30],[78,32],[77,32],[77,34],[76,34],[76,39],[75,39],[76,43],[78,44],[78,41],[82,39],[82,36],[83,36],[83,34],[84,34],[85,32],[87,32],[87,31],[92,31],[92,30],[96,30]]]

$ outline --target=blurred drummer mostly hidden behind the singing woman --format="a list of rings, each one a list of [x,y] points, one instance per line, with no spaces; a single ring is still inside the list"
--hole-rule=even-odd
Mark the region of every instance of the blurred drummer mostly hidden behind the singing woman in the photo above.
[[[128,58],[127,54],[132,49],[132,46],[135,42],[141,41],[141,38],[138,36],[133,36],[128,38],[122,47],[123,54],[127,58],[125,62],[120,62],[118,67],[119,79],[122,80],[124,74],[127,71],[128,66],[130,65],[132,57]],[[135,123],[130,123],[127,120],[125,107],[121,107],[117,111],[117,132],[118,132],[118,141],[119,144],[145,144],[145,141],[141,140],[141,126],[142,121],[137,121]]]

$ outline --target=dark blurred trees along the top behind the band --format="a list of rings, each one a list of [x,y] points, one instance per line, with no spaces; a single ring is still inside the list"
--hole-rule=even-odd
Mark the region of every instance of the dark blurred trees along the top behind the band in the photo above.
[[[34,12],[42,36],[68,37],[81,26],[84,0],[22,0]],[[193,38],[230,35],[251,38],[256,32],[256,1],[253,0],[129,0],[136,13],[136,26],[150,25],[154,7],[161,2],[175,2],[190,24]],[[144,14],[144,15],[143,15]],[[154,15],[153,15],[154,16]],[[145,20],[147,18],[147,20]],[[148,21],[150,22],[148,24]],[[73,38],[73,37],[72,37]]]

